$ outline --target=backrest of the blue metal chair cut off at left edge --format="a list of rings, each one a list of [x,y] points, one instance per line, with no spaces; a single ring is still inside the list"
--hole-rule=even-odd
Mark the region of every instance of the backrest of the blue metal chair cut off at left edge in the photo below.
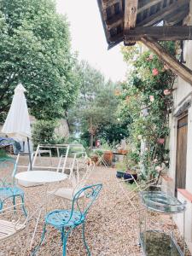
[[[11,157],[0,158],[0,186],[13,185],[16,171],[17,163],[15,159]]]

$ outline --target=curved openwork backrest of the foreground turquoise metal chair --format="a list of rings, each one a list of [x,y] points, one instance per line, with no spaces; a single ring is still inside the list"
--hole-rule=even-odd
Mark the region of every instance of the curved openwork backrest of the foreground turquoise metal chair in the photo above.
[[[80,189],[73,196],[71,214],[73,215],[73,211],[77,210],[80,212],[81,218],[85,218],[87,212],[89,211],[93,202],[96,200],[101,189],[102,189],[102,184],[94,184],[94,185],[84,187],[83,189]]]

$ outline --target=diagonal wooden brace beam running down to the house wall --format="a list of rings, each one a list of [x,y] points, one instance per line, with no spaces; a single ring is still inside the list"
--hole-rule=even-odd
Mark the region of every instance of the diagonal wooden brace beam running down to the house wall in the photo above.
[[[153,38],[141,38],[141,41],[149,49],[152,49],[154,53],[160,57],[160,60],[164,61],[174,73],[192,86],[192,70],[190,70],[189,67],[185,67],[182,63],[177,61],[175,57],[170,55],[168,51],[155,42]]]

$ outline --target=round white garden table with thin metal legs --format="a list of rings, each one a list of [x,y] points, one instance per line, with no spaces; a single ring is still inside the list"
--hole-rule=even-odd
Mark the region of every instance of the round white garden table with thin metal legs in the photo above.
[[[29,171],[29,172],[20,172],[15,175],[15,179],[20,184],[27,183],[28,185],[30,185],[31,183],[32,185],[45,185],[44,203],[38,207],[39,213],[38,213],[35,229],[32,234],[32,241],[34,240],[36,230],[38,228],[38,222],[39,222],[39,218],[41,216],[43,207],[47,206],[47,188],[49,183],[59,183],[67,179],[67,177],[68,177],[67,174],[64,174],[61,172],[53,172],[53,171]],[[37,189],[37,193],[38,193],[38,189]],[[35,212],[37,212],[37,210]],[[32,214],[32,216],[33,215],[34,213]],[[31,247],[32,247],[32,241],[31,241]]]

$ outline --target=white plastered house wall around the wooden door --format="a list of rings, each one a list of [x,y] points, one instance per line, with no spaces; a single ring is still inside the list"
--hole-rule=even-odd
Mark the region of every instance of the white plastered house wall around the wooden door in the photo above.
[[[192,25],[192,1],[190,1],[190,15],[188,17],[188,25]],[[183,59],[185,65],[192,69],[192,41],[184,42]],[[182,108],[184,102],[192,101],[192,85],[188,84],[181,78],[177,78],[174,84],[176,90],[173,91],[173,111],[170,115],[170,168],[167,173],[168,178],[162,178],[163,183],[172,189],[174,195],[175,177],[176,177],[176,160],[177,160],[177,117],[175,113]],[[177,198],[179,201],[186,201],[185,212],[185,238],[189,250],[192,253],[192,108],[188,108],[188,145],[187,145],[187,162],[186,162],[186,187],[178,189]],[[175,222],[183,234],[183,214],[177,214],[174,217]]]

